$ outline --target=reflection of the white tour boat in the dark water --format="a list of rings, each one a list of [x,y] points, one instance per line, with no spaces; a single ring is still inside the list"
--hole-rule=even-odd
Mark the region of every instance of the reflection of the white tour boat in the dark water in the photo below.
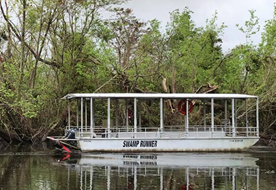
[[[110,153],[61,163],[75,170],[81,189],[259,189],[257,160],[250,153]]]

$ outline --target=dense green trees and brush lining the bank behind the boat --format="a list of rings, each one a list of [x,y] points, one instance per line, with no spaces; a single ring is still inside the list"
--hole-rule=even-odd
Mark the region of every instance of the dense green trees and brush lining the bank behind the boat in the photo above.
[[[0,137],[6,141],[38,142],[66,126],[61,97],[68,93],[209,90],[258,95],[261,135],[276,138],[276,8],[258,45],[251,37],[259,32],[259,19],[250,10],[250,19],[237,25],[246,43],[224,54],[227,26],[217,25],[217,12],[198,27],[191,10],[175,10],[161,32],[160,21],[144,23],[131,10],[115,8],[121,0],[0,3]],[[112,17],[103,18],[106,11]],[[181,122],[177,102],[166,105],[168,123]],[[157,108],[143,103],[143,123],[158,123]]]

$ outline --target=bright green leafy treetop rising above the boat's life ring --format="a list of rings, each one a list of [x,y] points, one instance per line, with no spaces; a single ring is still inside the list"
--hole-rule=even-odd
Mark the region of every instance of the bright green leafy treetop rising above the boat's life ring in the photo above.
[[[168,75],[172,68],[177,70],[177,89],[179,93],[193,93],[201,85],[211,82],[212,70],[222,57],[220,35],[226,26],[217,26],[217,12],[206,21],[205,28],[197,28],[191,19],[191,12],[176,10],[171,14],[168,25]],[[171,76],[169,76],[171,77]]]

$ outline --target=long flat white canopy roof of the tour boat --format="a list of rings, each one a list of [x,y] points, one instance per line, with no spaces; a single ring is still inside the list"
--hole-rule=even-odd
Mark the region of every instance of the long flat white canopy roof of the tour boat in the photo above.
[[[247,99],[257,98],[255,95],[242,95],[242,94],[195,94],[195,93],[75,93],[68,94],[62,99],[75,99],[75,98],[97,98],[106,99],[108,97],[112,99]]]

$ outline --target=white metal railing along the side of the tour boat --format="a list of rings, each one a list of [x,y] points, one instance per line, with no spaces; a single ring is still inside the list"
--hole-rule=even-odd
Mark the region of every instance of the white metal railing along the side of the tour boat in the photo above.
[[[70,129],[74,126],[70,126]],[[211,126],[189,126],[188,131],[185,131],[184,126],[164,127],[160,130],[159,127],[139,127],[119,126],[111,127],[110,129],[103,126],[77,127],[76,137],[78,138],[172,138],[172,137],[256,137],[257,128],[236,127],[233,131],[232,126],[216,125],[212,129]]]

